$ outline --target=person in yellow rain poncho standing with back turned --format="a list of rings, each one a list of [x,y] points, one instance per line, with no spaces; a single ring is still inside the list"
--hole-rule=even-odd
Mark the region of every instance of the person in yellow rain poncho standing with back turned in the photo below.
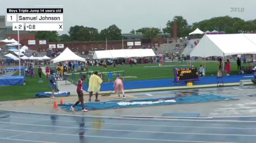
[[[102,83],[102,79],[98,76],[98,71],[95,71],[94,74],[89,78],[89,101],[91,101],[91,97],[95,92],[95,102],[99,102],[98,95],[100,91],[100,84]]]

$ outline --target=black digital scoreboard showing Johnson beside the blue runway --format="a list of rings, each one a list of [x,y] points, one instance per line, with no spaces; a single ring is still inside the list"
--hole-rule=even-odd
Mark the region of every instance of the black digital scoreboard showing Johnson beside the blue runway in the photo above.
[[[198,80],[197,67],[175,68],[174,79],[175,81],[189,81]]]

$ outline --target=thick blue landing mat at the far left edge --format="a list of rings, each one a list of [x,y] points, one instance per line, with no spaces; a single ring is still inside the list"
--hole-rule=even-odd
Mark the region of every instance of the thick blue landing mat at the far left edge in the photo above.
[[[23,84],[24,76],[9,76],[9,77],[0,77],[0,86],[1,85],[19,85]]]

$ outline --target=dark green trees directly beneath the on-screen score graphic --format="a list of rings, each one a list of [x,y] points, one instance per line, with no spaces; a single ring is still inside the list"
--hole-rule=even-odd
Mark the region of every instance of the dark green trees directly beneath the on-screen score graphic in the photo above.
[[[57,31],[36,31],[34,36],[37,39],[49,39],[49,42],[58,42],[58,32]]]

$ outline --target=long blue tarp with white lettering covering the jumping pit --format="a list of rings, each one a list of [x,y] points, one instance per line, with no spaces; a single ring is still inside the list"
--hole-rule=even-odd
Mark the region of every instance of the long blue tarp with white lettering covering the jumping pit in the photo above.
[[[222,101],[227,97],[213,95],[213,94],[186,94],[186,95],[169,95],[157,96],[127,100],[108,100],[102,102],[85,102],[85,108],[89,110],[96,109],[113,109],[125,107],[141,107],[141,106],[154,106],[165,105],[174,103],[194,103],[194,102],[209,102],[209,101]],[[233,100],[229,97],[230,100]],[[59,104],[64,110],[70,110],[73,103]],[[75,110],[81,110],[81,104],[75,107]]]

